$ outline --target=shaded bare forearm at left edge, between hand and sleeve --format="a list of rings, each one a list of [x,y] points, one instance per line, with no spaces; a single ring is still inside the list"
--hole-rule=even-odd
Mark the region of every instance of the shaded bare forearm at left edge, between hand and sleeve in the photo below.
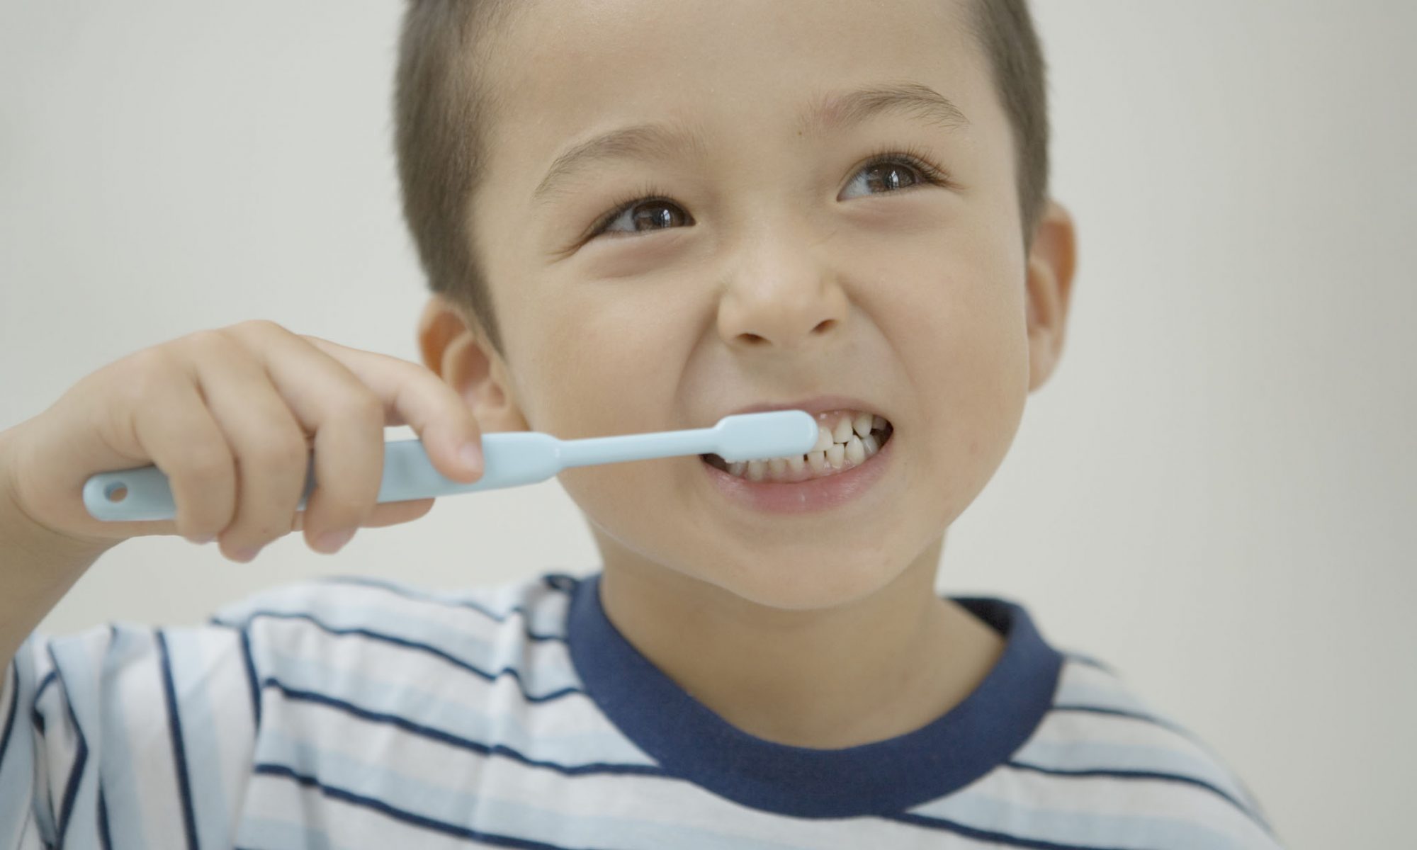
[[[31,521],[10,490],[9,470],[0,468],[0,669],[108,548],[81,545]]]

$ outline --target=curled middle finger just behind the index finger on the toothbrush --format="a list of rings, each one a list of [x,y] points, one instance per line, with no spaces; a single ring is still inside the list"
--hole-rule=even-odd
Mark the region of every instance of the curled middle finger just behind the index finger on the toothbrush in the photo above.
[[[333,552],[347,541],[336,536],[353,534],[378,499],[384,404],[339,360],[273,322],[245,322],[231,332],[262,361],[290,412],[315,435],[316,487],[302,530],[310,548]],[[306,466],[300,469],[303,475]],[[292,523],[289,517],[286,527]]]

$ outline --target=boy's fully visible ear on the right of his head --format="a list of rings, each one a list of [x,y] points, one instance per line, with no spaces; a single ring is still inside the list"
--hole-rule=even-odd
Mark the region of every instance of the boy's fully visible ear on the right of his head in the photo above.
[[[1077,266],[1077,230],[1073,215],[1058,204],[1049,204],[1039,220],[1029,251],[1027,322],[1029,322],[1029,392],[1041,387],[1063,356],[1067,307],[1073,296],[1073,272]]]

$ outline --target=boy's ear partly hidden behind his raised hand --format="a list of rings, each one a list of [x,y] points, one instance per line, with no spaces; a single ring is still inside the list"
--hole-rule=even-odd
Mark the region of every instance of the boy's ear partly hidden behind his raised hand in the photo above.
[[[530,431],[512,392],[506,363],[486,340],[476,319],[465,317],[442,295],[434,295],[418,319],[424,366],[468,402],[482,431]]]

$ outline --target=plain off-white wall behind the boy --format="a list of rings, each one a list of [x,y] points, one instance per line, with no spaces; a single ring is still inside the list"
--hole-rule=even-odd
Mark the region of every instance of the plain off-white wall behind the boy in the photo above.
[[[266,317],[418,360],[398,3],[0,4],[0,428]],[[1067,350],[941,588],[1023,602],[1244,778],[1295,849],[1397,847],[1417,793],[1410,3],[1039,3]],[[388,436],[407,438],[405,428]],[[3,551],[3,550],[0,550]],[[139,538],[41,626],[200,622],[317,574],[588,572],[558,484],[445,499],[337,557]]]

